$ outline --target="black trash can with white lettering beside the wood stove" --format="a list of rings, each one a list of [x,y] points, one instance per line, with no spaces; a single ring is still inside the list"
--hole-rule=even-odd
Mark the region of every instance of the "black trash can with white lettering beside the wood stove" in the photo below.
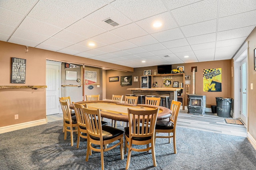
[[[217,115],[219,117],[230,117],[232,98],[216,97]]]

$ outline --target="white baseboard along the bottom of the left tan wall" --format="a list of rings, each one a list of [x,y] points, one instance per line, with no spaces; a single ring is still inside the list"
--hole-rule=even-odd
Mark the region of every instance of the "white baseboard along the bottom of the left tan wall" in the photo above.
[[[19,130],[19,129],[24,129],[26,127],[33,127],[33,126],[37,126],[37,125],[43,125],[43,124],[46,124],[46,123],[47,123],[46,119],[40,119],[40,120],[36,120],[36,121],[29,121],[29,122],[25,122],[25,123],[19,123],[19,124],[15,124],[15,125],[4,126],[4,127],[0,127],[0,134],[10,132],[10,131],[16,131],[16,130]]]

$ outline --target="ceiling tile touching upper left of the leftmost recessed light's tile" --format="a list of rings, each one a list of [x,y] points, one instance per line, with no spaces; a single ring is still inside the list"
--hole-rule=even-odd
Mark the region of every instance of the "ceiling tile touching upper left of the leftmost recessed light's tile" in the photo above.
[[[63,41],[67,41],[70,43],[79,43],[79,42],[87,39],[86,37],[83,37],[82,35],[78,35],[78,34],[75,34],[75,33],[72,33],[70,31],[66,31],[66,30],[62,30],[52,37],[61,39]]]

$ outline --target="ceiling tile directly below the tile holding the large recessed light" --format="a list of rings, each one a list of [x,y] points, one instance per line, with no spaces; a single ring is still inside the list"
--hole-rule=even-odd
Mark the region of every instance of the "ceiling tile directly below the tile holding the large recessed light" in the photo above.
[[[169,29],[166,31],[151,34],[159,42],[171,41],[175,39],[184,38],[179,28]]]

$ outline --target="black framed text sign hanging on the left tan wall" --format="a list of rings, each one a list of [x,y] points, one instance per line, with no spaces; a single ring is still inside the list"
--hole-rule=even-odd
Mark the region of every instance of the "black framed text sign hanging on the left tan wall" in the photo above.
[[[12,57],[11,83],[25,83],[26,59]]]

